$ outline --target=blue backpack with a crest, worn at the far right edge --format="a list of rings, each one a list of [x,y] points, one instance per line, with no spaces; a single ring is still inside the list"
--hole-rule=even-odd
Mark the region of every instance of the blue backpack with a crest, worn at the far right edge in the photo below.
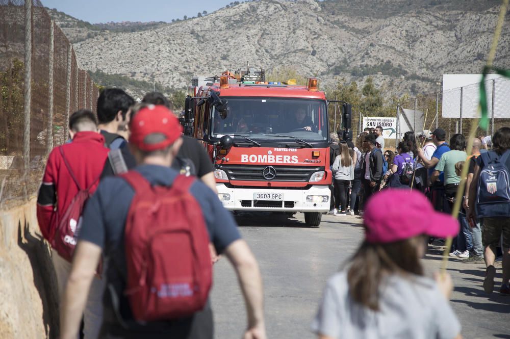
[[[480,154],[483,168],[476,192],[478,218],[510,217],[510,175],[506,167],[509,156],[509,150],[501,157],[494,151]]]

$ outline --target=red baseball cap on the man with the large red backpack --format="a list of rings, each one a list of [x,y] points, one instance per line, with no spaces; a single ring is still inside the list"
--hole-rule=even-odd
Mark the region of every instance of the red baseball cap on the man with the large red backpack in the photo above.
[[[172,111],[162,105],[142,108],[131,119],[130,129],[129,142],[143,151],[163,149],[173,144],[183,131],[183,127]],[[165,139],[156,144],[146,143],[145,138],[154,133],[165,136]]]

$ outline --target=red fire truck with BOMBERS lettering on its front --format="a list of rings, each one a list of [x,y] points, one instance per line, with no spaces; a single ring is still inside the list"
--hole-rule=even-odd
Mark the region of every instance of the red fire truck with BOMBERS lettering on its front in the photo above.
[[[185,133],[211,155],[227,210],[302,212],[307,225],[319,225],[331,171],[327,101],[317,83],[268,83],[260,68],[192,79]]]

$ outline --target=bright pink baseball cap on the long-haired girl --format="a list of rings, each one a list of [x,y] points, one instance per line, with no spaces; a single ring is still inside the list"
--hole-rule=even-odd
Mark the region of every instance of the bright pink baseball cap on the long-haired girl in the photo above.
[[[369,243],[391,243],[425,234],[435,238],[454,237],[458,221],[434,211],[420,192],[388,189],[368,201],[364,214],[365,239]]]

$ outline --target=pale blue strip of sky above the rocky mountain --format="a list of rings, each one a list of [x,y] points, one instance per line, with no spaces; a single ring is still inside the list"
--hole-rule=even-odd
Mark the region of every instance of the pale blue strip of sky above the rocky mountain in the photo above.
[[[48,8],[90,23],[119,21],[166,21],[211,13],[233,0],[41,0]]]

